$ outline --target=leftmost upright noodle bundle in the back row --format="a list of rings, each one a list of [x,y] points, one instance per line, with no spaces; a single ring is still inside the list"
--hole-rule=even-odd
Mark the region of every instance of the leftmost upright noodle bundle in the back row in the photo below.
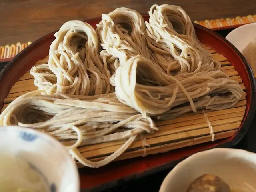
[[[108,66],[99,57],[98,36],[89,24],[82,21],[68,21],[55,34],[49,50],[49,59],[40,61],[30,73],[34,84],[55,92],[94,95],[110,93]],[[48,61],[48,62],[47,62]]]

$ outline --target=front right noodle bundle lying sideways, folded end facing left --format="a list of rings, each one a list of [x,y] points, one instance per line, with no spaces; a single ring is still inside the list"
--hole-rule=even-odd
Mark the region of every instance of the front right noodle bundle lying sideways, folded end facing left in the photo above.
[[[142,81],[136,79],[137,70],[147,74],[151,85],[140,84]],[[166,116],[162,113],[169,114],[171,108],[187,102],[190,103],[189,111],[193,112],[197,108],[221,110],[232,107],[242,97],[242,89],[236,81],[208,64],[194,72],[173,77],[154,68],[150,60],[136,56],[117,69],[115,80],[118,99],[141,112],[144,117],[150,114],[161,118],[162,115]],[[228,96],[218,95],[220,93],[228,93]],[[201,99],[204,104],[200,102]],[[197,100],[200,103],[198,107],[194,103]],[[180,112],[183,111],[184,106],[180,108]]]

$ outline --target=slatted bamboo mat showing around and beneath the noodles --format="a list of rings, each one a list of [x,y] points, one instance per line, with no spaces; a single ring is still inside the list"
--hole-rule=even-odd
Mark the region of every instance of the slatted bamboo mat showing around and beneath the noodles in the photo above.
[[[210,135],[208,121],[213,127],[215,140],[231,137],[237,132],[243,120],[246,108],[245,86],[238,72],[234,69],[234,66],[232,66],[223,55],[216,53],[216,51],[212,50],[210,47],[205,46],[205,48],[221,63],[221,70],[232,80],[237,81],[244,89],[244,94],[240,101],[232,108],[226,110],[205,110],[204,112],[198,110],[196,114],[191,112],[172,120],[158,121],[156,125],[159,131],[154,134],[138,137],[130,148],[116,160],[162,153],[176,148],[210,142],[212,135]],[[4,100],[2,111],[18,96],[32,90],[37,90],[33,81],[33,76],[30,75],[29,72],[26,72],[24,76],[12,86],[7,98]],[[85,158],[101,160],[118,150],[124,142],[125,141],[94,144],[91,146],[82,146],[78,149]]]

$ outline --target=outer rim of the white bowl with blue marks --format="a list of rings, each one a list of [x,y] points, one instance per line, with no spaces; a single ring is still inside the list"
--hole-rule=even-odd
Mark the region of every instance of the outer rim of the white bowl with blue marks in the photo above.
[[[19,132],[19,131],[24,131],[27,132],[29,134],[34,134],[36,136],[40,136],[40,138],[47,140],[48,142],[51,142],[52,144],[54,144],[55,146],[58,147],[58,151],[61,152],[65,159],[66,159],[66,163],[70,164],[72,170],[74,170],[74,175],[72,175],[72,177],[75,180],[75,188],[74,188],[74,192],[79,192],[80,191],[80,180],[79,180],[79,174],[78,174],[78,168],[76,166],[76,164],[73,162],[70,154],[68,153],[68,150],[65,149],[65,147],[56,139],[54,139],[53,137],[51,137],[50,135],[44,133],[44,132],[40,132],[38,130],[34,130],[32,128],[27,128],[27,127],[21,127],[21,126],[0,126],[0,129],[5,129],[7,130],[11,130],[14,129],[15,132]],[[9,134],[9,133],[8,133]]]

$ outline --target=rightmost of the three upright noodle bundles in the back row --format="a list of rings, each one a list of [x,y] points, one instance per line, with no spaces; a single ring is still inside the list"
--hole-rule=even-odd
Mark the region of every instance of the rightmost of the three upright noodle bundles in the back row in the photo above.
[[[214,62],[217,70],[220,63],[213,60],[202,48],[186,12],[179,6],[153,5],[146,22],[148,48],[154,51],[160,66],[169,73],[193,72],[202,64]]]

